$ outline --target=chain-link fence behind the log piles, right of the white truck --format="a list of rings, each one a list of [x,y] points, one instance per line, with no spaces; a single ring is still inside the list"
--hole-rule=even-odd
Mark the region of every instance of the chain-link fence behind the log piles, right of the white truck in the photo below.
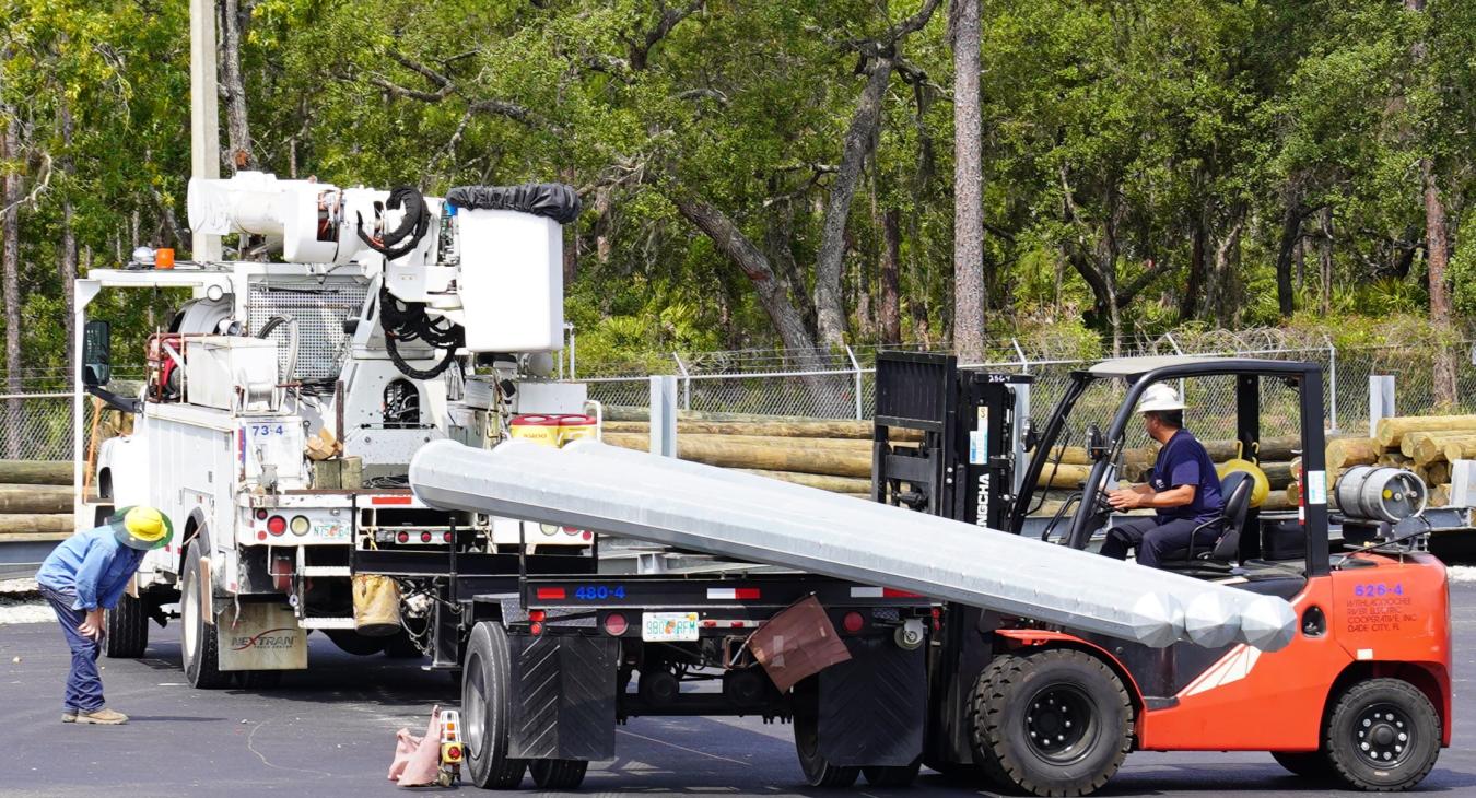
[[[1325,425],[1330,429],[1353,434],[1368,428],[1368,378],[1376,375],[1395,378],[1395,409],[1399,414],[1476,413],[1476,341],[1454,345],[1457,401],[1454,406],[1442,406],[1436,401],[1433,347],[1337,348],[1327,339],[1321,345],[1308,342],[1286,345],[1286,341],[1266,339],[1263,335],[1247,338],[1250,341],[1234,341],[1224,333],[1203,336],[1199,341],[1179,341],[1165,335],[1151,341],[1131,341],[1114,350],[1123,357],[1197,354],[1317,363],[1322,367]],[[672,375],[677,379],[677,401],[683,410],[866,419],[875,403],[877,351],[896,348],[917,350],[917,347],[849,347],[841,351],[753,350],[700,355],[673,354],[669,364],[660,364],[667,367],[646,366],[639,373],[607,369],[615,373],[580,375],[579,382],[589,385],[590,398],[610,406],[646,407],[648,378]],[[1008,339],[992,342],[984,361],[973,366],[1033,376],[1030,404],[1035,414],[1041,416],[1061,397],[1070,382],[1070,373],[1088,367],[1092,361],[1076,353],[1052,357],[1049,347],[1032,347]],[[1184,389],[1190,407],[1185,413],[1187,422],[1200,437],[1234,437],[1235,391],[1230,378],[1191,381]],[[1082,429],[1086,423],[1106,426],[1122,395],[1123,386],[1119,384],[1097,384],[1077,403],[1073,417]],[[1294,392],[1283,385],[1265,382],[1262,407],[1266,409],[1262,434],[1297,432]]]

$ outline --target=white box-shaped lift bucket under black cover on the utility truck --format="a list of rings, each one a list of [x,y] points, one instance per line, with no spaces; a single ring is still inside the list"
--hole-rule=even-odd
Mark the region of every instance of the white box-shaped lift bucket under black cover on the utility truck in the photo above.
[[[518,211],[461,209],[458,288],[466,348],[558,351],[564,342],[564,232]]]

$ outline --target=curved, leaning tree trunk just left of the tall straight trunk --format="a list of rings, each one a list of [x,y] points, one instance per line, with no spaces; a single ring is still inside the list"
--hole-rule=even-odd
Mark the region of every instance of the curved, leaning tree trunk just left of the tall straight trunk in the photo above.
[[[880,56],[871,59],[871,75],[856,102],[856,114],[846,130],[840,170],[831,183],[825,205],[825,221],[821,229],[821,251],[815,263],[815,320],[819,326],[821,344],[831,348],[846,345],[846,302],[841,292],[841,266],[846,260],[846,221],[850,218],[850,204],[856,196],[861,167],[866,162],[877,128],[881,124],[881,102],[892,81],[893,59]]]

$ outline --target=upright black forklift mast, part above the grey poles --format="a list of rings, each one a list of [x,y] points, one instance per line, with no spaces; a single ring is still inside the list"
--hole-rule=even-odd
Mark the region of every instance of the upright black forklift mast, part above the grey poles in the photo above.
[[[872,499],[1010,528],[1024,463],[1029,375],[959,369],[930,353],[877,355]],[[921,434],[914,448],[902,431]]]

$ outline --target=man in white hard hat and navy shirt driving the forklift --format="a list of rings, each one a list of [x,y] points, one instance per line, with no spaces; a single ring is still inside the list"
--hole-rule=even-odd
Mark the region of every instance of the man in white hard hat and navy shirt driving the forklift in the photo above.
[[[1225,504],[1219,475],[1204,444],[1184,429],[1184,401],[1168,385],[1150,385],[1138,403],[1148,437],[1159,441],[1159,459],[1145,484],[1107,493],[1117,510],[1153,507],[1154,518],[1135,518],[1107,531],[1101,553],[1126,559],[1135,549],[1138,563],[1159,568],[1165,555],[1190,547],[1194,530],[1219,515]],[[1213,525],[1199,532],[1194,546],[1210,546]]]

